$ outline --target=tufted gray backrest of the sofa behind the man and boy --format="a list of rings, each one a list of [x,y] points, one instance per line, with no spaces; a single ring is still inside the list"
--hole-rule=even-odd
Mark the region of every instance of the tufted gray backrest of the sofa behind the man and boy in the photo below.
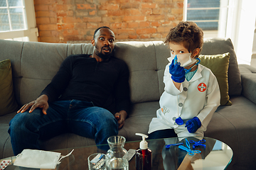
[[[116,57],[127,62],[129,67],[132,103],[158,101],[164,91],[164,69],[168,64],[166,59],[170,56],[169,47],[161,41],[116,42],[115,45]],[[0,40],[0,47],[0,61],[11,60],[14,92],[16,101],[20,105],[38,97],[68,55],[92,54],[93,50],[91,44],[7,40]],[[206,40],[201,53],[203,55],[232,53],[228,77],[230,90],[232,90],[230,92],[233,95],[240,94],[241,90],[239,91],[239,83],[231,83],[240,79],[235,52],[232,50],[233,45],[230,40],[210,39]]]

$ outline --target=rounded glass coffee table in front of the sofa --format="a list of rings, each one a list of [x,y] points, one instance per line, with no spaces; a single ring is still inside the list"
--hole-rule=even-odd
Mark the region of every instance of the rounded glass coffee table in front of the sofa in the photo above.
[[[178,146],[171,146],[166,148],[166,145],[183,143],[186,147],[186,139],[190,143],[190,149],[201,151],[201,153],[190,155]],[[193,149],[194,142],[201,141],[200,146]],[[206,140],[204,142],[204,140]],[[124,148],[127,149],[137,149],[139,147],[140,141],[126,142]],[[172,170],[172,169],[225,169],[230,164],[233,151],[228,145],[219,140],[214,140],[210,137],[195,138],[195,137],[174,137],[159,140],[147,140],[149,143],[149,148],[152,150],[152,170]],[[203,145],[206,145],[204,147]],[[88,169],[87,157],[93,153],[104,153],[107,151],[103,149],[98,149],[97,146],[87,146],[87,147],[76,147],[69,149],[59,149],[54,152],[60,152],[61,155],[68,154],[72,149],[73,153],[62,159],[61,164],[59,164],[56,169],[59,170],[81,170]],[[9,157],[6,160],[11,160],[11,164],[4,170],[26,170],[27,168],[14,166],[16,157]],[[1,159],[3,160],[3,159]],[[135,170],[135,157],[129,161],[129,170]],[[36,170],[36,169],[27,169]],[[45,170],[45,169],[42,169]]]

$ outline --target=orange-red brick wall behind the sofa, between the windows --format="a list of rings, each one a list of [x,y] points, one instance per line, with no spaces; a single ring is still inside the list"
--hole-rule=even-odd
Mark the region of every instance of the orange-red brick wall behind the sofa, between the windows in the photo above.
[[[183,0],[34,0],[38,41],[91,40],[109,26],[117,40],[164,39],[183,18]]]

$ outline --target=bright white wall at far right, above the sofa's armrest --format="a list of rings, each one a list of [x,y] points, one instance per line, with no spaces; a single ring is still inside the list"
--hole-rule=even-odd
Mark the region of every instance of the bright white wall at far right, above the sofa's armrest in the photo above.
[[[226,37],[231,38],[238,64],[250,64],[255,35],[256,1],[230,0]]]

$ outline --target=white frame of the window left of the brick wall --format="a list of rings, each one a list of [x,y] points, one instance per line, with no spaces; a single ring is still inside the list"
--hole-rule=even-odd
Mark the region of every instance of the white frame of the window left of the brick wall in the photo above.
[[[24,16],[26,18],[25,29],[0,32],[0,39],[38,41],[38,28],[36,28],[36,15],[33,0],[23,0],[23,4],[25,6]]]

